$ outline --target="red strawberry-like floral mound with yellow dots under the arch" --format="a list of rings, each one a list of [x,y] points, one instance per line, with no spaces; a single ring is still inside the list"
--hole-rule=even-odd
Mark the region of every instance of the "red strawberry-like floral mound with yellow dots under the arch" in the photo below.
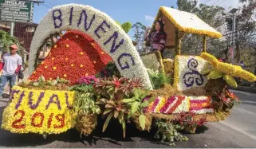
[[[112,58],[103,52],[93,38],[81,31],[68,31],[53,46],[29,80],[37,80],[40,76],[51,80],[59,76],[75,84],[81,76],[96,75],[110,61]]]

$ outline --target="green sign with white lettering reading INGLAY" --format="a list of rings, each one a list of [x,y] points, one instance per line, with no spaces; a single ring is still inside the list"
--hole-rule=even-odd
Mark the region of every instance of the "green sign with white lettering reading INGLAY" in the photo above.
[[[33,22],[33,2],[0,0],[0,21]]]

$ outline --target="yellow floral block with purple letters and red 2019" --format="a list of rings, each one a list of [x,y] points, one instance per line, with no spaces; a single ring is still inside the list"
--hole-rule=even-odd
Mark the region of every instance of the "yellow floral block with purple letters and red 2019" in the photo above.
[[[74,92],[14,86],[5,108],[2,128],[13,133],[59,134],[74,127]]]

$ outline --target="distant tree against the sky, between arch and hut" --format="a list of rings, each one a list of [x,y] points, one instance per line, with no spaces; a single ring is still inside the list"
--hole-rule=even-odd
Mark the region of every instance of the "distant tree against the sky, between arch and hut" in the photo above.
[[[136,22],[136,24],[132,25],[132,29],[134,30],[133,37],[135,38],[136,43],[142,46],[144,44],[144,34],[147,27],[140,22]]]

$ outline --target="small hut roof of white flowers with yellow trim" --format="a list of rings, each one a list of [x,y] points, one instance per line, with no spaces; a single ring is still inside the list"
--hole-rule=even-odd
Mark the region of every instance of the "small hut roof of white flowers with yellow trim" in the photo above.
[[[175,45],[176,29],[179,31],[179,37],[183,37],[185,33],[194,33],[214,38],[223,36],[222,33],[219,33],[206,22],[203,22],[203,20],[195,14],[187,13],[185,11],[161,6],[156,16],[156,20],[159,18],[165,22],[164,31],[167,33],[167,46]],[[155,24],[152,27],[155,27]]]

